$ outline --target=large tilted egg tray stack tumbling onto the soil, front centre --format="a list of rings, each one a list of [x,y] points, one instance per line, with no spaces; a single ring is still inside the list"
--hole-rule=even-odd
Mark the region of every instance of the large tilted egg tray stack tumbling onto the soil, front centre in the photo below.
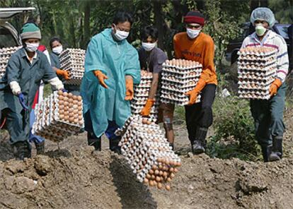
[[[116,131],[119,143],[132,172],[140,182],[170,190],[170,182],[181,165],[159,125],[150,119],[132,116]]]

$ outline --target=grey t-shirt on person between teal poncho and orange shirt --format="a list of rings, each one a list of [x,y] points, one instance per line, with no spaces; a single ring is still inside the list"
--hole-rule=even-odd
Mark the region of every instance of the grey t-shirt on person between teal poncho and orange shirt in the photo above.
[[[163,50],[154,47],[150,53],[147,53],[144,48],[138,50],[140,68],[151,73],[161,73],[162,64],[166,61],[167,56]]]

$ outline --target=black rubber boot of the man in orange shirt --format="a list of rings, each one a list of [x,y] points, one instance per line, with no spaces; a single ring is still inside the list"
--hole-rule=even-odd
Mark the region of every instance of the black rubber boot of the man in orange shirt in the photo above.
[[[196,130],[195,140],[191,141],[191,149],[194,155],[205,153],[207,137],[207,128],[198,127]]]

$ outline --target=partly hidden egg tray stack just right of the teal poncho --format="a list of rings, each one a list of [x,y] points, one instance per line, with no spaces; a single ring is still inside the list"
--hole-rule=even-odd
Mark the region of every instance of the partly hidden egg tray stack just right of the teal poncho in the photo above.
[[[151,81],[153,74],[147,71],[141,72],[141,80],[139,85],[134,85],[134,97],[131,101],[131,112],[133,115],[139,115],[146,104],[146,100],[149,97],[149,90],[151,88]],[[157,90],[159,92],[159,90]],[[151,114],[149,118],[156,121],[159,107],[159,94],[156,96],[156,102],[151,107]]]

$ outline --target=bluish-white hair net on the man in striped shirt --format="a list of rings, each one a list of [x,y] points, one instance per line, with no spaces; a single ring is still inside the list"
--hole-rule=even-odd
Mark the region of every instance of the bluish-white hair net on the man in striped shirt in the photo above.
[[[253,10],[251,13],[251,23],[254,24],[255,20],[265,20],[268,22],[269,26],[272,27],[275,25],[275,16],[270,8],[258,7]]]

